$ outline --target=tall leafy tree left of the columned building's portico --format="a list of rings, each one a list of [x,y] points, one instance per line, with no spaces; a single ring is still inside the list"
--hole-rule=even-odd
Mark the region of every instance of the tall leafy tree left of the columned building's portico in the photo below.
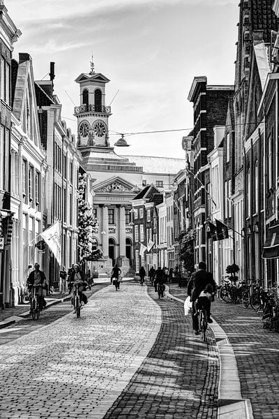
[[[98,220],[94,218],[92,208],[85,199],[86,191],[86,175],[79,175],[78,188],[78,249],[80,260],[89,256],[92,245],[95,244],[93,239],[93,228],[98,226]]]

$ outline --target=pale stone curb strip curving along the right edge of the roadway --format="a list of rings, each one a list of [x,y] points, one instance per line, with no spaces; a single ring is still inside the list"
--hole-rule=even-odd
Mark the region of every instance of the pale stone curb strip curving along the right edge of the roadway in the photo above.
[[[169,293],[169,286],[167,285],[165,294],[172,300],[184,304],[184,300]],[[250,399],[243,399],[241,395],[241,383],[234,349],[229,343],[225,330],[214,318],[209,327],[216,338],[220,360],[217,417],[218,419],[254,419]]]

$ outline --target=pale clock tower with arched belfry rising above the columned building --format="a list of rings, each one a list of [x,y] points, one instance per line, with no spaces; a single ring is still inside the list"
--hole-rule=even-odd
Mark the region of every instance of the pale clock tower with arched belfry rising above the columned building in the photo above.
[[[105,105],[105,84],[110,80],[95,73],[91,61],[91,71],[79,75],[75,82],[80,84],[80,106],[75,107],[77,147],[107,149],[110,147],[108,119],[112,113],[110,106]]]

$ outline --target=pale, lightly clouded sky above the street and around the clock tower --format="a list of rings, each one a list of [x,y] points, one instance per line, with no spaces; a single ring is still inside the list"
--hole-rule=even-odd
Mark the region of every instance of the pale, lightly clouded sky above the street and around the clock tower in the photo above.
[[[128,135],[118,154],[183,159],[181,139],[193,127],[188,101],[193,78],[234,84],[238,0],[4,0],[22,31],[13,58],[28,52],[35,80],[49,78],[55,62],[54,93],[62,117],[77,133],[73,103],[80,105],[80,73],[110,79],[110,143]],[[72,103],[73,101],[73,103]],[[183,131],[171,131],[183,130]]]

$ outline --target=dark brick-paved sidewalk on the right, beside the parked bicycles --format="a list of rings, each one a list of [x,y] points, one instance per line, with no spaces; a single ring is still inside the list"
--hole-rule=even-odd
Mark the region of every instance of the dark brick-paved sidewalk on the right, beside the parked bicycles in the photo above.
[[[169,293],[186,299],[186,288],[169,284]],[[261,316],[252,308],[226,303],[218,298],[211,305],[236,358],[243,399],[250,399],[255,419],[279,418],[279,334],[262,328]],[[218,339],[217,339],[218,343]]]

